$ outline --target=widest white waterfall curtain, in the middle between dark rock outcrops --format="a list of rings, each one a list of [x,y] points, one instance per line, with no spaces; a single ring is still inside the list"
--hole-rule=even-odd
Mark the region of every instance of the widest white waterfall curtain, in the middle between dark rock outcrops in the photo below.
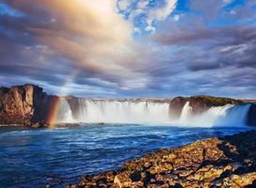
[[[79,122],[168,123],[168,102],[79,99]]]

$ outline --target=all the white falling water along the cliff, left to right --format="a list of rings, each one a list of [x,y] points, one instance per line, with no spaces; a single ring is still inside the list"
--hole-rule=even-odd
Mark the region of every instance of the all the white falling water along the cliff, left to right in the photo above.
[[[171,118],[168,102],[113,101],[78,99],[78,115],[72,117],[69,103],[62,99],[56,118],[59,122],[84,123],[150,123],[181,126],[243,126],[246,124],[250,104],[212,107],[200,115],[192,114],[189,102],[184,104],[181,117]]]

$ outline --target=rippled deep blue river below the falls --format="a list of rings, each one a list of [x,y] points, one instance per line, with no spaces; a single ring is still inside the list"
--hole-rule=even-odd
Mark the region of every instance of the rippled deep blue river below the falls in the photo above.
[[[154,149],[177,147],[249,128],[82,125],[72,128],[0,127],[1,187],[63,187],[85,174],[116,169]]]

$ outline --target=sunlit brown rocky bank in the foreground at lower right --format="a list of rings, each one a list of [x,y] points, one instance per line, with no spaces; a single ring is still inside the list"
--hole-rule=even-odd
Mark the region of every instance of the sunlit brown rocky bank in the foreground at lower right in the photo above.
[[[160,149],[68,187],[256,187],[256,132]]]

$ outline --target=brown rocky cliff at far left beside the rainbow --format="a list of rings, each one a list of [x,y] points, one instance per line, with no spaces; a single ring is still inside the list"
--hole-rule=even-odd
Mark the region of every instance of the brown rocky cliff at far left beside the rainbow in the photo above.
[[[47,124],[56,96],[42,92],[40,86],[0,87],[0,124]]]

